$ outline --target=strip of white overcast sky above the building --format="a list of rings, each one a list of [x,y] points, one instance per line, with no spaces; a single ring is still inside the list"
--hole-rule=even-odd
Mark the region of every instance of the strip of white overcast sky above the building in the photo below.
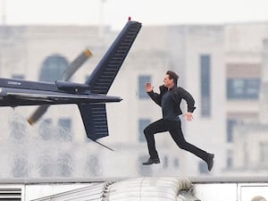
[[[2,23],[144,25],[267,21],[268,0],[0,0]],[[3,20],[3,15],[5,16]]]

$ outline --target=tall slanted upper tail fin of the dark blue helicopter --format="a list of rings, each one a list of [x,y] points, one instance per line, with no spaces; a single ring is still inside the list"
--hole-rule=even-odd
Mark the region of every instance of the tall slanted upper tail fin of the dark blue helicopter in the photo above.
[[[141,23],[137,21],[127,22],[86,81],[91,93],[107,94],[138,35],[139,29],[141,29]]]

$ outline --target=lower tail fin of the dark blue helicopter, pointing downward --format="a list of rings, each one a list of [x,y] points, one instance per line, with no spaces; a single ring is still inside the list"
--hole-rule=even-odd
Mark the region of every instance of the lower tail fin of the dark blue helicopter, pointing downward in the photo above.
[[[79,105],[88,138],[96,141],[109,135],[105,104]]]

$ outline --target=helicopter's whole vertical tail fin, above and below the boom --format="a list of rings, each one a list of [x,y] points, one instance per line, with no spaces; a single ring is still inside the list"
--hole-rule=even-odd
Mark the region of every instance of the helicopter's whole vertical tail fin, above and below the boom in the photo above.
[[[140,29],[138,21],[127,22],[86,81],[91,93],[108,93]],[[105,104],[78,105],[88,138],[96,142],[96,139],[108,136]]]

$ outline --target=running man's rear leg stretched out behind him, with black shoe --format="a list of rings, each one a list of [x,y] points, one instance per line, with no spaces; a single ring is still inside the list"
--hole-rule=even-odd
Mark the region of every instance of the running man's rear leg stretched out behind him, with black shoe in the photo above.
[[[197,155],[197,157],[203,159],[205,163],[208,165],[209,171],[211,171],[213,167],[213,159],[214,155],[208,154],[204,150],[188,143],[182,133],[181,130],[181,122],[180,121],[169,121],[169,128],[170,133],[173,138],[173,140],[176,142],[176,144],[181,148],[184,149],[194,155]]]

